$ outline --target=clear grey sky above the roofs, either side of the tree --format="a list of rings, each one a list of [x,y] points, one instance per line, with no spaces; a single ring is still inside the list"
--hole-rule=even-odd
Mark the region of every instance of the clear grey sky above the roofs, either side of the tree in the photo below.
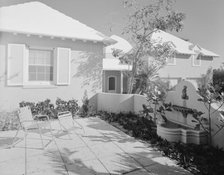
[[[30,1],[34,0],[0,0],[0,7]],[[122,0],[38,1],[108,36],[125,38],[122,31],[128,13]],[[174,9],[185,13],[186,19],[183,30],[173,34],[213,51],[224,61],[224,0],[176,0]]]

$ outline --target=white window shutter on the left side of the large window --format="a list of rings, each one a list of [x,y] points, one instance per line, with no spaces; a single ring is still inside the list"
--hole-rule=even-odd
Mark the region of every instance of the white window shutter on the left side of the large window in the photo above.
[[[8,44],[7,85],[23,85],[23,64],[26,54],[24,44]]]

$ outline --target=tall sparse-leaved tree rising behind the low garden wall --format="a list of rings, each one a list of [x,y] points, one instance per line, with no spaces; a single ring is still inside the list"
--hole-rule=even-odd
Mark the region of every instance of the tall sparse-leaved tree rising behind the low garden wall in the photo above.
[[[172,0],[157,0],[150,4],[140,4],[137,0],[123,2],[125,8],[131,11],[123,33],[129,35],[134,47],[129,53],[116,52],[116,54],[121,61],[132,65],[128,93],[136,93],[133,91],[136,79],[142,79],[141,84],[145,82],[147,84],[148,78],[156,76],[158,70],[165,64],[166,58],[174,55],[172,43],[155,42],[151,38],[152,34],[159,30],[180,31],[185,15],[172,9]],[[150,64],[148,64],[149,56],[152,58]],[[145,69],[142,65],[150,67]]]

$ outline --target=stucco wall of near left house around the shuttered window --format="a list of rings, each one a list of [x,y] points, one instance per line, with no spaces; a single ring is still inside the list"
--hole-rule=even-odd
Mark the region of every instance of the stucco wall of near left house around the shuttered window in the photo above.
[[[8,86],[8,43],[47,48],[70,48],[70,84],[64,86]],[[87,90],[89,97],[95,92],[100,92],[102,87],[103,47],[102,43],[89,41],[0,33],[0,110],[14,110],[21,101],[38,102],[49,98],[52,102],[55,102],[57,97],[65,100],[74,98],[81,102],[85,90]]]

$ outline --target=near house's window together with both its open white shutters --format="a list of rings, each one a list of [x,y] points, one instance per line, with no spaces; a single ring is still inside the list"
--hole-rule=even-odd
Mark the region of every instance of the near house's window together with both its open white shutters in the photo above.
[[[8,44],[7,85],[24,87],[70,84],[70,48]]]

